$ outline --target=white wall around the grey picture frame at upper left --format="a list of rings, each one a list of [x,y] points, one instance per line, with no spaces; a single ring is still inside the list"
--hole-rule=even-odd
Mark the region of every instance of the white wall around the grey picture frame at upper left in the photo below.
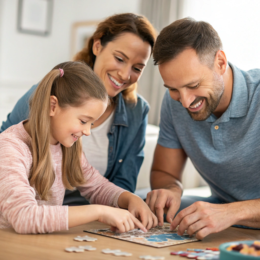
[[[60,62],[69,60],[73,22],[99,20],[120,12],[139,12],[139,0],[54,0],[51,34],[19,33],[18,0],[0,0],[0,82],[32,84]]]

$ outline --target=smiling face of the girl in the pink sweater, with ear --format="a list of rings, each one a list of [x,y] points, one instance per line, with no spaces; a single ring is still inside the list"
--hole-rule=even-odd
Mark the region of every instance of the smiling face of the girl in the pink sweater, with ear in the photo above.
[[[90,135],[90,126],[106,110],[107,103],[88,100],[80,107],[61,108],[55,96],[51,96],[51,141],[71,147],[82,135]]]

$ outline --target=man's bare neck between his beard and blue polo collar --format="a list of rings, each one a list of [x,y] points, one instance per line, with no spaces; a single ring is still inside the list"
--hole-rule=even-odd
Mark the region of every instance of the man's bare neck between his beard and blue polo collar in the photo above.
[[[229,103],[232,97],[232,90],[233,90],[233,71],[231,67],[228,65],[226,72],[222,75],[224,81],[224,93],[220,99],[220,102],[213,112],[217,118],[220,118],[222,114],[228,109]]]

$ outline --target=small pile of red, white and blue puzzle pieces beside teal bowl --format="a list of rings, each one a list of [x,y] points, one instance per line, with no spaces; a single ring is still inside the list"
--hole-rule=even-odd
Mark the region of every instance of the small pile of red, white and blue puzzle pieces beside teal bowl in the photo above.
[[[186,256],[197,260],[218,260],[220,252],[217,248],[187,249],[186,251],[171,252],[171,255]]]

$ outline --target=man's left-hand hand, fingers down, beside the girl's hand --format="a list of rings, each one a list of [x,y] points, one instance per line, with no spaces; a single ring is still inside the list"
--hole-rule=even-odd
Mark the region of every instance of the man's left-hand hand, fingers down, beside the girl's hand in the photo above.
[[[158,218],[158,225],[162,226],[164,219],[163,214],[167,213],[166,220],[171,223],[181,202],[180,189],[168,190],[158,189],[152,190],[147,194],[146,204]]]

